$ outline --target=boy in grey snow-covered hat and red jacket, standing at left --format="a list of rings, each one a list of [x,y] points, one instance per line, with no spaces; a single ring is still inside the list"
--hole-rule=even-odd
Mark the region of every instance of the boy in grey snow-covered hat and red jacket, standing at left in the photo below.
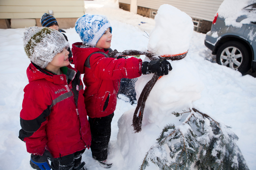
[[[80,72],[70,66],[69,42],[48,27],[29,27],[24,50],[31,60],[24,88],[19,138],[37,170],[85,170],[81,155],[91,145]],[[51,160],[51,165],[48,162]]]

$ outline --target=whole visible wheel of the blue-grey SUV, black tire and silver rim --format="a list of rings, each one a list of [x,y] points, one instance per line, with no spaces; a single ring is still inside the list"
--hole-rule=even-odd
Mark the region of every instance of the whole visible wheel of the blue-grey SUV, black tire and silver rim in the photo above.
[[[216,62],[220,65],[238,70],[242,74],[251,68],[251,59],[245,46],[236,41],[225,42],[218,49]]]

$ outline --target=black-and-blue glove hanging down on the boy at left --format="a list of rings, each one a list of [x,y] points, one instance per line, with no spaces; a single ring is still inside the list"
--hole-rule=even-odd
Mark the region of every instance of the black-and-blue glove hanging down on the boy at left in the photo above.
[[[49,164],[48,158],[53,161],[53,156],[48,150],[45,150],[42,156],[31,154],[30,165],[36,170],[50,170],[52,168]]]

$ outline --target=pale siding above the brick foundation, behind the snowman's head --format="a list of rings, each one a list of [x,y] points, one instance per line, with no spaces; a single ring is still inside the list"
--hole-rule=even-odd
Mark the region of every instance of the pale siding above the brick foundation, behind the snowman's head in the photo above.
[[[163,4],[172,5],[190,17],[212,21],[223,0],[138,0],[140,7],[159,9]]]

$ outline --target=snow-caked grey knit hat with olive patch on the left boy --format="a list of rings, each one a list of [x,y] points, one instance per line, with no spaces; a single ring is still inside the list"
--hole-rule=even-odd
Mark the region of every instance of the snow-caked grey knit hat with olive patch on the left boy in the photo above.
[[[45,68],[63,48],[69,47],[69,42],[59,31],[37,26],[26,28],[23,44],[29,59],[41,68]]]

